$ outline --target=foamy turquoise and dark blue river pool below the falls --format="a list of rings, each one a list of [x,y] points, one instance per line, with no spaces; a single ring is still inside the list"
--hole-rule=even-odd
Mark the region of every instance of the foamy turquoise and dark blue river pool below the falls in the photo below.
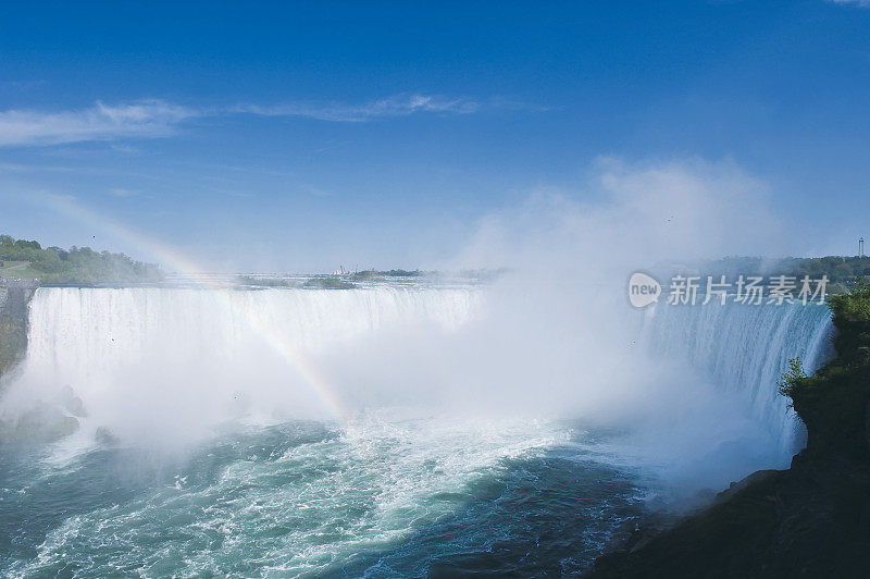
[[[574,574],[646,492],[564,426],[370,419],[225,433],[165,456],[0,456],[0,572],[395,577]]]

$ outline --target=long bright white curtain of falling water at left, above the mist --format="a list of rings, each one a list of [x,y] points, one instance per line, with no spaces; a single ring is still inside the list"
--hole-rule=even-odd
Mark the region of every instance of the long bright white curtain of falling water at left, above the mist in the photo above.
[[[478,307],[474,288],[377,286],[351,291],[44,287],[30,306],[27,364],[87,377],[146,346],[222,356],[281,340],[307,353],[384,328],[455,330]],[[259,334],[259,335],[258,335]]]

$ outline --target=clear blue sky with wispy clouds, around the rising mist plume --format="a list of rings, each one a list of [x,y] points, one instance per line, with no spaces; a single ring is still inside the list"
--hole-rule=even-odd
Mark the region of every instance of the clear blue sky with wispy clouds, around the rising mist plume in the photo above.
[[[14,236],[150,258],[61,197],[212,269],[426,267],[607,157],[739,167],[790,252],[870,237],[868,2],[11,4]]]

